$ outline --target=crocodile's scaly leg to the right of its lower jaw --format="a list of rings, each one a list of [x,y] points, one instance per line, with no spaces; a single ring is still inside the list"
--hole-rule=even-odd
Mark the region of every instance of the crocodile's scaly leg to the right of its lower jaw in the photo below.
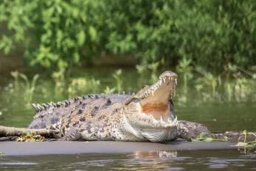
[[[201,123],[192,123],[186,120],[179,120],[177,126],[178,136],[181,139],[187,139],[187,141],[191,141],[191,139],[198,137],[202,132],[211,135],[208,128]]]

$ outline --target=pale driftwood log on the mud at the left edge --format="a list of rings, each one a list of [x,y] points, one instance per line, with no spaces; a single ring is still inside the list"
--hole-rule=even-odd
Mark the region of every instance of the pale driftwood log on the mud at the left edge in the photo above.
[[[7,127],[0,125],[0,137],[10,137],[16,136],[19,137],[21,134],[26,134],[27,132],[35,132],[44,137],[56,137],[58,131],[54,131],[51,129],[28,129],[28,128],[15,128],[15,127]]]

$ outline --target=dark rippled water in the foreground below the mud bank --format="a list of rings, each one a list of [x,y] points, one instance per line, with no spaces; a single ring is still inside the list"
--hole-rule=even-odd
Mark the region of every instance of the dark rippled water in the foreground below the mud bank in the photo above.
[[[256,154],[237,150],[0,156],[1,170],[256,170]]]

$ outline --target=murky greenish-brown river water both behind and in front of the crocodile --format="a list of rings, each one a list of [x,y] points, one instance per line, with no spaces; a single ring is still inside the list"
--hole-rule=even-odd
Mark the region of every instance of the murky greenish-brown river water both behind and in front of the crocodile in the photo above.
[[[105,87],[116,86],[111,76],[115,69],[77,70],[73,76],[91,76],[100,80],[97,86],[77,89],[76,95],[100,93]],[[161,73],[161,72],[159,72]],[[33,74],[30,74],[30,77]],[[144,84],[151,84],[151,75],[144,78],[134,68],[122,70],[122,89],[136,92]],[[34,110],[24,105],[24,81],[20,79],[19,89],[13,88],[11,77],[0,83],[0,125],[26,127],[32,120]],[[196,92],[193,84],[186,93],[179,79],[175,103],[179,120],[203,123],[211,131],[256,131],[255,101],[204,100],[207,95]],[[97,87],[97,88],[96,88]],[[221,90],[219,90],[221,92]],[[69,97],[67,86],[55,93],[55,84],[50,75],[41,75],[36,83],[33,103],[62,101]],[[119,154],[77,154],[49,156],[0,156],[1,170],[256,170],[255,151],[242,153],[234,150],[180,150],[167,152],[136,152]],[[176,154],[172,156],[172,154]],[[169,154],[169,155],[168,155]]]

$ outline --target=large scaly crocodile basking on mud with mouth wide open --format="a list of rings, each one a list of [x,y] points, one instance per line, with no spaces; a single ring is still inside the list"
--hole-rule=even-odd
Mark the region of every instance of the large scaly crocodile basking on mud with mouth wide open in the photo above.
[[[30,129],[58,131],[58,140],[113,140],[166,142],[191,140],[202,132],[200,123],[177,120],[173,97],[177,74],[165,71],[151,86],[136,94],[83,95],[58,103],[35,104]]]

